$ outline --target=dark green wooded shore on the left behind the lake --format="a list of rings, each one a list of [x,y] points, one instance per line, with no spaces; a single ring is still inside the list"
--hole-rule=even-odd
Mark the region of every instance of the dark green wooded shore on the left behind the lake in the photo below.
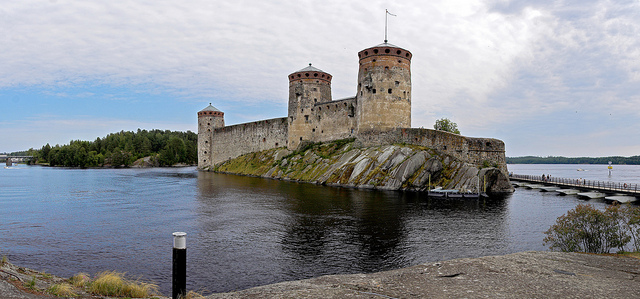
[[[177,163],[196,164],[198,135],[191,131],[140,130],[111,133],[94,141],[72,140],[66,145],[30,149],[38,163],[67,167],[127,167],[143,157],[151,163],[171,166]]]

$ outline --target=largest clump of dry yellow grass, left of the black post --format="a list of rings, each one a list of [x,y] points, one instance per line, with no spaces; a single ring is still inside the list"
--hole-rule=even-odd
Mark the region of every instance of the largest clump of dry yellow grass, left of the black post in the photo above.
[[[89,285],[89,291],[94,294],[115,297],[142,298],[157,293],[155,284],[132,281],[124,277],[124,273],[105,271],[99,273]]]

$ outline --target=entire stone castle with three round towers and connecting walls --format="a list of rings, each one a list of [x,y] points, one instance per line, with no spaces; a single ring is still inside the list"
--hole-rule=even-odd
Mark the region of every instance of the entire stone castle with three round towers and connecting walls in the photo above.
[[[469,163],[504,165],[504,143],[430,129],[411,129],[411,58],[386,41],[358,52],[354,97],[333,100],[332,76],[309,66],[289,75],[288,116],[233,126],[209,105],[198,112],[198,168],[243,154],[306,142],[355,138],[362,146],[416,144],[447,152]]]

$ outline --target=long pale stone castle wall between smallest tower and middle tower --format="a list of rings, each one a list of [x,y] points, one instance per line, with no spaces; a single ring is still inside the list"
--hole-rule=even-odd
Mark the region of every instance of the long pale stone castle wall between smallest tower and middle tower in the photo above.
[[[213,130],[211,167],[240,155],[287,146],[287,118],[273,118]],[[202,167],[202,168],[205,168]]]

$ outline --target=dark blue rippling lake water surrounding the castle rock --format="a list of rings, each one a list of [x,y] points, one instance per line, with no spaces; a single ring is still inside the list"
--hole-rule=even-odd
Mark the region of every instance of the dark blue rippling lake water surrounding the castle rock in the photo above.
[[[589,171],[578,173],[577,167]],[[509,165],[509,170],[640,180],[638,166],[614,166],[612,178],[603,165]],[[0,169],[0,255],[63,277],[126,272],[159,284],[166,295],[171,234],[184,231],[187,288],[225,292],[325,274],[546,250],[543,232],[583,202],[521,189],[506,198],[430,199],[192,167],[19,165]]]

